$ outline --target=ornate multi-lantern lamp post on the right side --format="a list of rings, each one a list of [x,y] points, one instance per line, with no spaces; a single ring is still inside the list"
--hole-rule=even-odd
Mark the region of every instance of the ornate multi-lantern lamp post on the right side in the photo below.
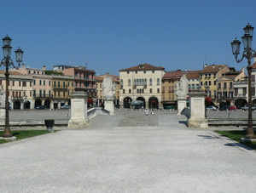
[[[232,52],[235,55],[236,62],[240,63],[244,58],[247,59],[247,71],[248,71],[248,123],[247,123],[247,134],[245,139],[255,139],[255,135],[253,132],[253,116],[252,116],[252,65],[251,60],[253,59],[253,55],[255,55],[255,51],[252,49],[252,41],[253,41],[253,29],[249,23],[246,27],[243,28],[244,36],[241,37],[244,51],[241,56],[241,60],[237,60],[237,55],[240,54],[240,44],[241,42],[235,39],[231,43]]]

